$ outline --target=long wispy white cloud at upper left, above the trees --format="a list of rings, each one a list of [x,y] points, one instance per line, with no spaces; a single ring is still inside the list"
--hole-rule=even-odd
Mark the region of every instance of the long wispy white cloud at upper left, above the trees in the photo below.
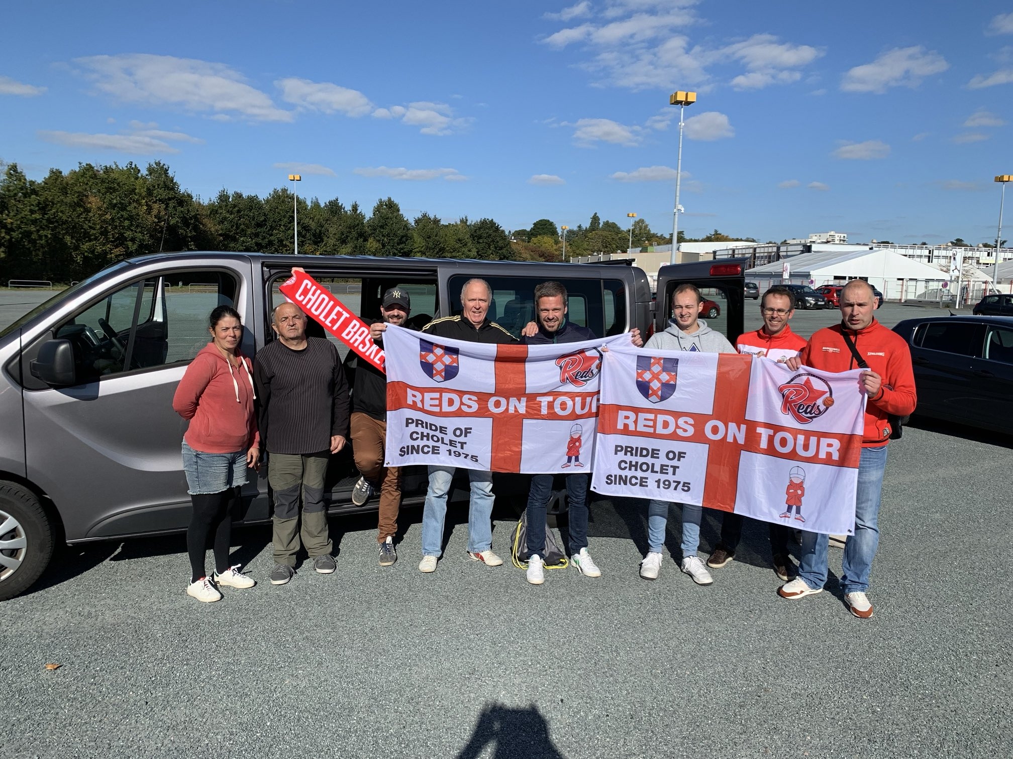
[[[291,121],[291,111],[246,84],[225,64],[173,56],[124,54],[75,59],[96,89],[123,102],[181,107],[256,121]]]

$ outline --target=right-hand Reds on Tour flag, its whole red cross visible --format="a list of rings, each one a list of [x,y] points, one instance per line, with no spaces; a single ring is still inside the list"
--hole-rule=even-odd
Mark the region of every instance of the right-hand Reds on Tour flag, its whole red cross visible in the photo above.
[[[861,371],[736,353],[605,354],[592,489],[853,534]]]

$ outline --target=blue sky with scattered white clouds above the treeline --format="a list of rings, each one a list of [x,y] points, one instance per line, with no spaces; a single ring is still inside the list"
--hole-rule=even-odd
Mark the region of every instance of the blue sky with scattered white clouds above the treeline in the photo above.
[[[1013,1],[7,4],[0,160],[166,162],[206,199],[392,196],[405,216],[636,213],[761,240],[995,238]],[[1013,226],[1013,196],[1009,224]]]

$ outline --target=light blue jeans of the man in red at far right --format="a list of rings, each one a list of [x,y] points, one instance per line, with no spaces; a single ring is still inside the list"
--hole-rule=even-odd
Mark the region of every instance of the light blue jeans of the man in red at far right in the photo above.
[[[845,593],[869,589],[872,559],[879,545],[879,496],[886,469],[886,446],[862,448],[858,461],[858,490],[855,493],[855,534],[848,536],[841,562],[841,586]],[[798,577],[810,588],[827,582],[829,536],[823,532],[802,532]]]

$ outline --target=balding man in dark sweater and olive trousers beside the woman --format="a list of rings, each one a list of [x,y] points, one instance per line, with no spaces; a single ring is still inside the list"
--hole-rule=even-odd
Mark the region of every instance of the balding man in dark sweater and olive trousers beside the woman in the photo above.
[[[275,492],[270,582],[284,585],[295,574],[300,533],[313,569],[322,575],[335,570],[323,490],[330,455],[344,447],[348,434],[348,385],[337,348],[306,337],[306,315],[298,306],[275,309],[271,327],[278,339],[257,352],[253,378]]]

